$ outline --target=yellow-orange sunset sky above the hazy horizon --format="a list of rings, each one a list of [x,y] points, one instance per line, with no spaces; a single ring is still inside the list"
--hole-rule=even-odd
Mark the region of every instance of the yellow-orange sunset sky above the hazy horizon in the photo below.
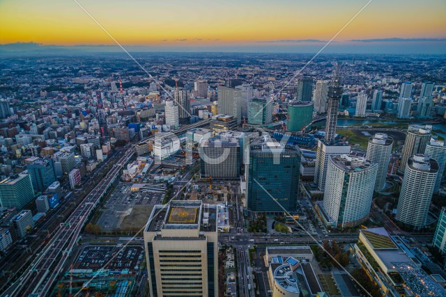
[[[123,45],[160,48],[323,45],[324,40],[330,40],[367,3],[358,0],[78,1]],[[378,42],[392,46],[401,42],[416,43],[444,51],[445,15],[444,0],[374,0],[335,41],[364,47]],[[114,45],[74,0],[0,0],[0,44],[15,42]]]

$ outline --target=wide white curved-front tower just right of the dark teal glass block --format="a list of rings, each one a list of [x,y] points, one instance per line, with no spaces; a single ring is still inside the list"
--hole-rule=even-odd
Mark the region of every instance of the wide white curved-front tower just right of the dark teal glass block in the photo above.
[[[367,220],[377,172],[378,164],[362,157],[330,157],[323,206],[338,227],[353,227]]]

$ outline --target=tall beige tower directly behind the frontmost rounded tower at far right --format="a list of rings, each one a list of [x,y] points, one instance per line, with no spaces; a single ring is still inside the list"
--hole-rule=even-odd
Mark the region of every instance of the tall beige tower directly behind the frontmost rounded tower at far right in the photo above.
[[[431,140],[431,125],[409,125],[407,129],[406,141],[404,141],[401,152],[401,161],[398,171],[404,172],[407,161],[414,154],[424,154],[427,143]]]

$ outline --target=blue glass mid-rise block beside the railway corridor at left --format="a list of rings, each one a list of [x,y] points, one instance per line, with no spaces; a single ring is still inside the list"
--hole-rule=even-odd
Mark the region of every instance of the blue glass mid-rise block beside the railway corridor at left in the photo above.
[[[31,176],[31,182],[36,191],[43,193],[50,184],[56,181],[56,173],[52,159],[37,159],[26,165],[26,170],[28,170]]]

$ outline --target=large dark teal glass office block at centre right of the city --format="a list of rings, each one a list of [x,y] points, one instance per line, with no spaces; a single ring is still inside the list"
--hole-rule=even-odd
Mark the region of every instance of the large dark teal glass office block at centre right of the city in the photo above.
[[[268,134],[249,145],[245,175],[250,211],[296,210],[301,156],[299,147],[277,143]]]

